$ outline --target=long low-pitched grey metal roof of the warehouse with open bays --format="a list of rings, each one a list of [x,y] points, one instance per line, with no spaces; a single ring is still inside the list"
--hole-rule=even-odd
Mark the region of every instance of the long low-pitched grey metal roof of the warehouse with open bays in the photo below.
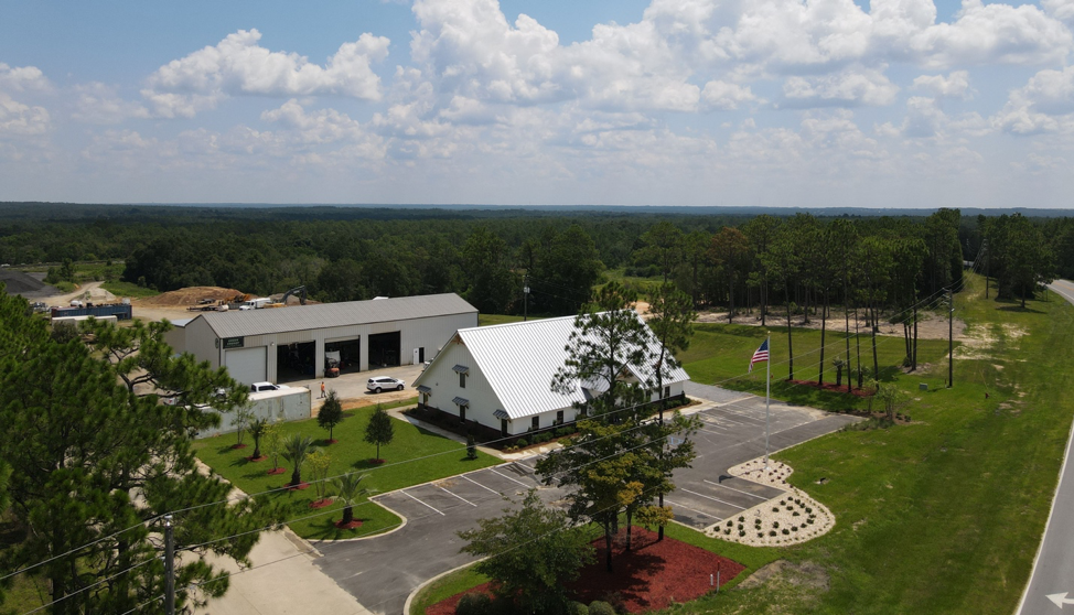
[[[216,336],[224,338],[408,321],[471,312],[476,313],[477,309],[455,293],[444,293],[370,301],[347,301],[344,303],[290,305],[262,310],[206,312],[197,317],[205,319]]]

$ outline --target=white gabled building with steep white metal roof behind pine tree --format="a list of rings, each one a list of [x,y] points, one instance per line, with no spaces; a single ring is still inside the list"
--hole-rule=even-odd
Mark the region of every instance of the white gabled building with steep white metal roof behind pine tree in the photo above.
[[[576,403],[603,392],[597,382],[578,382],[570,390],[552,390],[556,371],[569,355],[574,316],[460,328],[415,380],[421,402],[516,435],[531,429],[573,421]],[[659,354],[653,339],[651,350]],[[621,377],[648,381],[653,369],[631,369]],[[665,397],[683,393],[689,376],[681,367],[666,378]],[[654,393],[653,399],[658,399]]]

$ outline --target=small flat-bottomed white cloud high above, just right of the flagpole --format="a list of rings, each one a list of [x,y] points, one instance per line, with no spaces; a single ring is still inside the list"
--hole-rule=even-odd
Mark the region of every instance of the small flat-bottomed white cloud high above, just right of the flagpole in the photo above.
[[[819,77],[788,77],[783,84],[783,96],[792,107],[884,106],[893,102],[898,93],[899,87],[882,69],[874,68],[850,68]]]

